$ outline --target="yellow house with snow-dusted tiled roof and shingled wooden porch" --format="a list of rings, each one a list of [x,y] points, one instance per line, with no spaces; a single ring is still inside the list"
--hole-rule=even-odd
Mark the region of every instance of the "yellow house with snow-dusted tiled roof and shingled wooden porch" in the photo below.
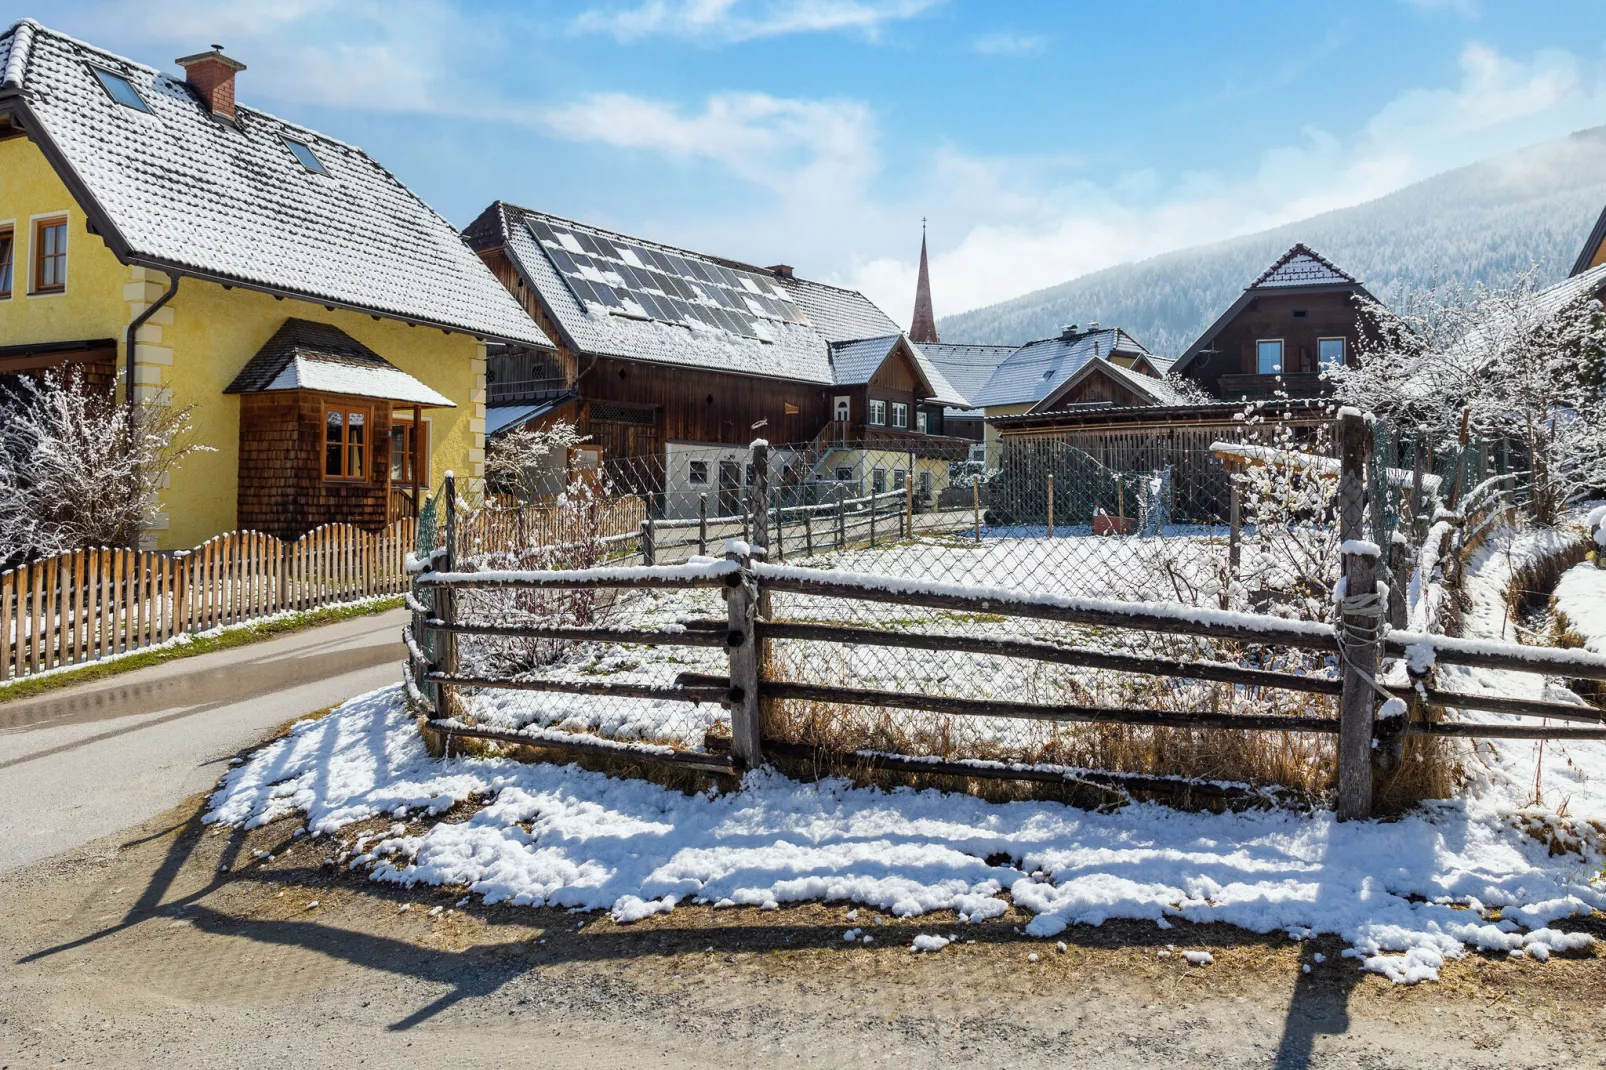
[[[483,477],[487,342],[552,347],[374,159],[24,19],[0,35],[0,374],[190,406],[141,535],[379,527]]]

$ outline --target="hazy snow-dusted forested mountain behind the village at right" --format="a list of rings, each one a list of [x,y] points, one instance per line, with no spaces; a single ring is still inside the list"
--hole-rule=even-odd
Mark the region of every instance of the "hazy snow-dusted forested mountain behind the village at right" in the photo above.
[[[1606,127],[1447,170],[1257,235],[1166,252],[938,321],[944,342],[1026,342],[1063,323],[1119,326],[1176,357],[1278,254],[1302,241],[1380,299],[1434,276],[1563,278],[1606,204]]]

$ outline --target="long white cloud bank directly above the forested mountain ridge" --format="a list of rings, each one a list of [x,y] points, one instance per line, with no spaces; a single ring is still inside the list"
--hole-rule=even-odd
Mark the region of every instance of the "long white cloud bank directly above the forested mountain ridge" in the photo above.
[[[1065,180],[1057,175],[1082,172],[944,149],[920,191],[933,220],[933,300],[940,317],[956,313],[1124,260],[1359,204],[1603,117],[1606,85],[1588,82],[1572,55],[1519,61],[1473,43],[1461,51],[1458,85],[1407,90],[1347,137],[1307,127],[1262,153],[1249,174]],[[914,243],[903,239],[896,255],[862,255],[843,281],[904,317],[915,267]]]

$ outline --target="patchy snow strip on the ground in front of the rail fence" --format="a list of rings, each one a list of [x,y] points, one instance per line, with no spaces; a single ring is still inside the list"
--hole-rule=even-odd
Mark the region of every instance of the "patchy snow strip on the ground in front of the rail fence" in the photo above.
[[[475,795],[454,823],[405,824]],[[739,790],[684,795],[577,766],[430,758],[398,688],[352,699],[231,770],[207,821],[255,826],[305,813],[316,834],[374,816],[353,868],[374,880],[463,884],[488,903],[609,909],[620,921],[681,903],[846,900],[960,924],[1034,914],[1026,932],[1111,917],[1336,933],[1396,982],[1437,977],[1473,948],[1545,958],[1590,937],[1550,922],[1606,906],[1606,861],[1550,856],[1524,816],[1492,798],[1423,807],[1391,823],[1330,813],[1180,813],[801,784],[753,773]],[[1004,855],[1013,864],[993,864]],[[1502,919],[1490,921],[1489,911]]]

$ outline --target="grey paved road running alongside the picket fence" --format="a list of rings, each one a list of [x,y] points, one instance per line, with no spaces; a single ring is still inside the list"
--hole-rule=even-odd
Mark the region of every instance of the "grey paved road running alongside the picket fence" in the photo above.
[[[0,872],[210,787],[284,721],[400,680],[405,611],[0,704]]]

